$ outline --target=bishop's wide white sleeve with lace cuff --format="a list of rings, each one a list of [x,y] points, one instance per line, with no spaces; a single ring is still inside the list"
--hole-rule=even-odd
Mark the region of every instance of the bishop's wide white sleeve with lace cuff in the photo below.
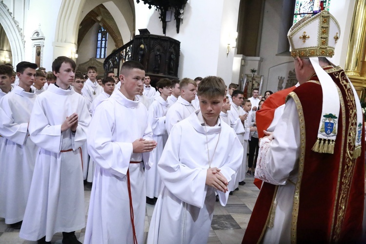
[[[296,104],[292,99],[286,102],[284,114],[273,132],[274,139],[263,139],[255,177],[265,182],[283,185],[297,171],[300,154],[300,123]]]

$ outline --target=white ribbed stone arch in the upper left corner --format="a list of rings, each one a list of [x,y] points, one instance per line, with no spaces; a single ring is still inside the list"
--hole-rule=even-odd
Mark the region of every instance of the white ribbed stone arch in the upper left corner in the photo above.
[[[3,1],[0,1],[0,24],[10,42],[13,65],[17,65],[20,61],[24,61],[25,57],[23,35],[19,24],[15,22],[14,17]]]

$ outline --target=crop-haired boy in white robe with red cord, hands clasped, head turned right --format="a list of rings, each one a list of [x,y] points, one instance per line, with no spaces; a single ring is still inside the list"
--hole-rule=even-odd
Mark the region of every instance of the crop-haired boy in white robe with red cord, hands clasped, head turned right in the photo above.
[[[87,143],[97,165],[84,244],[143,243],[146,193],[141,162],[149,162],[149,152],[156,147],[147,110],[135,97],[144,76],[141,63],[124,62],[121,90],[93,113]]]

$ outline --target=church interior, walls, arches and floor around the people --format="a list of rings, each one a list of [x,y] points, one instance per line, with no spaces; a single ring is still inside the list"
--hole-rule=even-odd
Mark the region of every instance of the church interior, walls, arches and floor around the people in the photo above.
[[[161,78],[219,76],[251,96],[294,86],[287,32],[307,5],[324,4],[341,33],[333,58],[366,99],[366,0],[0,0],[0,63],[37,63],[46,71],[59,56],[99,76],[140,61],[152,85]],[[164,5],[165,4],[165,5]],[[167,5],[166,5],[167,4]],[[259,189],[254,176],[215,205],[208,243],[241,243]],[[85,215],[90,187],[85,186]],[[154,206],[146,206],[145,238]],[[365,219],[365,218],[364,218]],[[365,222],[365,220],[364,220]],[[364,225],[365,226],[365,225]],[[76,233],[83,242],[83,232]],[[61,243],[56,234],[52,243]],[[145,239],[146,240],[146,239]],[[0,243],[32,244],[0,219]]]

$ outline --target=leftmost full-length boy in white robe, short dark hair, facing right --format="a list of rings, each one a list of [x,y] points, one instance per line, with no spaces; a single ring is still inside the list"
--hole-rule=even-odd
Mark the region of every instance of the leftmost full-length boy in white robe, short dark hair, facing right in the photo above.
[[[0,217],[16,229],[24,217],[37,153],[28,133],[37,97],[31,88],[36,68],[35,63],[18,63],[19,86],[0,101]]]

